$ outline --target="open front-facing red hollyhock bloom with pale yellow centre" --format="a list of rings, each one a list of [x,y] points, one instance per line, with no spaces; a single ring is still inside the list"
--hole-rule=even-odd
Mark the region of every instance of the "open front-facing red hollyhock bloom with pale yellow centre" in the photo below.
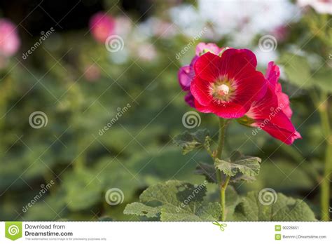
[[[221,57],[205,53],[195,61],[191,93],[195,108],[222,118],[240,118],[266,93],[267,82],[256,71],[257,60],[247,49],[229,48]]]

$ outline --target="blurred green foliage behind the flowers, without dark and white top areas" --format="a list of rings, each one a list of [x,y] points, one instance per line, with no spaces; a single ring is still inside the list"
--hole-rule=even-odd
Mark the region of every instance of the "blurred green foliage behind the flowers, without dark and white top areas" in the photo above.
[[[157,13],[161,15],[164,7],[160,5]],[[289,46],[306,42],[317,30],[319,18],[314,11],[308,12],[300,22],[292,24],[288,38],[278,46],[281,58],[277,62],[284,64],[286,73],[281,82],[284,92],[293,94],[293,123],[303,140],[287,147],[263,131],[253,135],[251,128],[232,123],[224,153],[229,155],[240,147],[244,154],[262,158],[256,182],[235,184],[238,193],[270,187],[286,196],[304,199],[317,218],[319,180],[326,142],[331,143],[331,138],[322,133],[310,95],[312,90],[328,94],[332,91],[328,57],[331,27],[319,28],[323,34],[308,41],[305,55],[293,53]],[[181,64],[175,58],[190,39],[181,35],[172,39],[152,37],[151,43],[158,51],[155,60],[130,57],[118,65],[111,61],[104,45],[84,36],[85,32],[86,29],[62,32],[58,50],[39,48],[26,62],[13,57],[0,71],[1,220],[146,220],[123,214],[125,205],[139,201],[144,189],[167,180],[193,184],[205,180],[193,172],[199,162],[212,163],[208,156],[202,151],[183,156],[173,144],[174,136],[186,130],[182,116],[192,110],[184,103],[184,93],[179,88],[177,71]],[[224,46],[226,39],[218,44]],[[184,60],[190,60],[193,53],[191,48]],[[308,58],[312,54],[320,58]],[[101,69],[101,78],[95,82],[82,76],[83,67],[90,64]],[[315,72],[315,67],[320,66],[323,69]],[[307,79],[310,82],[302,86]],[[331,104],[330,97],[327,103]],[[99,135],[99,130],[116,116],[117,109],[126,104],[130,109],[104,135]],[[46,127],[29,126],[33,111],[47,114]],[[327,113],[331,118],[331,110]],[[218,121],[209,114],[200,115],[200,127],[209,128],[216,139]],[[39,195],[41,184],[51,180],[55,184],[24,212],[22,208]],[[123,203],[106,203],[104,195],[111,188],[123,191]],[[207,189],[214,191],[214,184],[207,184]]]

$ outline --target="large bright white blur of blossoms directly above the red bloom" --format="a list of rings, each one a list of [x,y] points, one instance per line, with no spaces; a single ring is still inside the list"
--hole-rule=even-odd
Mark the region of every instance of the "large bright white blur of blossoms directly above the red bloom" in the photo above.
[[[198,0],[198,11],[212,22],[219,37],[230,35],[235,47],[247,46],[257,34],[270,33],[300,17],[300,11],[289,0]]]

